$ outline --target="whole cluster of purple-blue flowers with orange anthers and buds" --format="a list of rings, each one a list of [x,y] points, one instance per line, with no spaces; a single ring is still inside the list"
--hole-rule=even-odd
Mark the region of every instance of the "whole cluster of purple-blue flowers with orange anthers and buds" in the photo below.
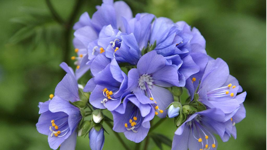
[[[112,121],[103,109],[113,115],[113,131],[136,143],[146,138],[155,116],[174,118],[173,150],[216,149],[214,134],[236,138],[246,92],[238,94],[242,88],[225,61],[206,54],[198,29],[148,13],[132,17],[123,1],[103,0],[96,9],[73,27],[76,69],[62,62],[66,76],[55,96],[39,104],[36,127],[52,149],[75,149],[77,135],[88,133],[91,149],[102,149],[102,124]],[[92,78],[78,84],[88,71]],[[183,104],[182,87],[190,96]]]

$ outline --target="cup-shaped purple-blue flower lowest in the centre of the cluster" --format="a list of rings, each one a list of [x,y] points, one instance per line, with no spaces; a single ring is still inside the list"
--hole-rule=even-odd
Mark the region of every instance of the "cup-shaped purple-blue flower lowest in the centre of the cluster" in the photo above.
[[[155,109],[150,104],[142,104],[133,94],[124,98],[122,104],[111,112],[116,132],[123,132],[125,137],[136,143],[147,136],[150,120],[155,116]]]

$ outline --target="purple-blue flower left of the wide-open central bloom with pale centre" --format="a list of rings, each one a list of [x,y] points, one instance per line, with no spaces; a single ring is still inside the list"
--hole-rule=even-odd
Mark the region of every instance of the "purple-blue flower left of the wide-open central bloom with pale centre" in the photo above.
[[[94,107],[107,108],[111,111],[120,105],[122,96],[127,89],[127,83],[126,74],[121,71],[117,61],[113,59],[104,70],[88,81],[84,91],[92,92],[89,102]]]

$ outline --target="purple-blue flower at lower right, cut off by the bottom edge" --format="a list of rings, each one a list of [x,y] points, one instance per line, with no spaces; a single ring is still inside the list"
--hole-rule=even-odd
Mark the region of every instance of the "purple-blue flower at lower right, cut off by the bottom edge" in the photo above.
[[[172,150],[217,149],[213,134],[223,137],[224,118],[225,114],[217,108],[194,113],[175,131]]]

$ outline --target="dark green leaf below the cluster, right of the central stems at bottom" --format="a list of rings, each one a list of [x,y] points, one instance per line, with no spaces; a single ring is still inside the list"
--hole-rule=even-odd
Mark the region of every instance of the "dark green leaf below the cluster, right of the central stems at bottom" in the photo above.
[[[159,134],[159,133],[151,133],[150,137],[152,138],[152,140],[155,142],[155,144],[157,145],[157,147],[159,147],[159,149],[163,149],[162,148],[162,144],[165,144],[169,147],[171,147],[172,145],[172,140],[169,139],[167,136]]]

